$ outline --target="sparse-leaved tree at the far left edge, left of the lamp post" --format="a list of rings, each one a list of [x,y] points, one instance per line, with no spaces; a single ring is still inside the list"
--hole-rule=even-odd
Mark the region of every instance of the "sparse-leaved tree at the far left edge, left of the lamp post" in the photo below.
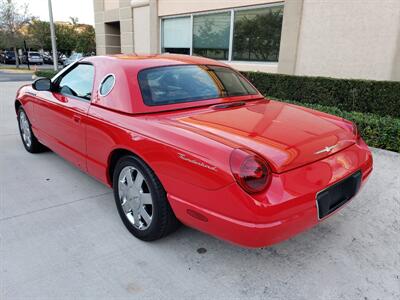
[[[17,5],[12,0],[0,0],[0,28],[6,43],[14,49],[16,58],[17,46],[21,42],[21,29],[30,20],[27,4]],[[15,60],[15,64],[19,67],[18,59]]]

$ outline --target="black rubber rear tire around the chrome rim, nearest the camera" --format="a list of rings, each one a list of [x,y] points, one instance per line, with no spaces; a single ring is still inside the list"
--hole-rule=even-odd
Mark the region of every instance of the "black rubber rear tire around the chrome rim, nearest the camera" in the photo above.
[[[145,180],[146,186],[151,194],[152,198],[152,220],[148,228],[138,229],[129,219],[127,218],[119,195],[119,177],[121,171],[126,167],[133,167],[140,171]],[[141,159],[136,156],[128,155],[119,159],[114,169],[113,174],[113,189],[115,203],[118,209],[118,213],[121,217],[122,222],[129,232],[143,241],[154,241],[158,240],[169,233],[175,231],[179,226],[179,221],[174,215],[171,206],[169,205],[166,192],[154,174],[154,172],[144,163]]]

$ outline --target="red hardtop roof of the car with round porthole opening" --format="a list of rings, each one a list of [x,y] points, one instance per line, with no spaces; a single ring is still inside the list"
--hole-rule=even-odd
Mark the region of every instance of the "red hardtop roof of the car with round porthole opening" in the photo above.
[[[80,60],[82,63],[91,63],[96,68],[94,87],[100,87],[101,82],[110,75],[114,75],[115,83],[112,91],[102,96],[99,88],[95,88],[92,95],[92,104],[106,109],[123,112],[126,114],[142,114],[165,112],[176,109],[199,107],[217,103],[259,99],[261,94],[246,95],[238,97],[223,97],[202,101],[176,103],[168,105],[149,106],[143,102],[141,90],[138,85],[138,74],[148,68],[177,66],[177,65],[213,65],[229,67],[228,65],[198,56],[179,54],[156,54],[156,55],[111,55],[91,56]]]

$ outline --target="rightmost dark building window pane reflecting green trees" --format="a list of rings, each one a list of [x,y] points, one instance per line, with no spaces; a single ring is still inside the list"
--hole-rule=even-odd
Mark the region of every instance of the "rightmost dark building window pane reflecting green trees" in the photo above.
[[[233,60],[277,62],[283,6],[235,12]]]

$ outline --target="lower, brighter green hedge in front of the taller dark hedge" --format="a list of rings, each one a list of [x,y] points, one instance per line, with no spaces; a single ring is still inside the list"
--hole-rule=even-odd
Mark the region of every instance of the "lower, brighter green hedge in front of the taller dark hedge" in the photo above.
[[[357,124],[362,138],[369,146],[400,152],[399,118],[384,117],[356,111],[348,112],[336,107],[323,106],[320,104],[302,103],[291,100],[283,101],[323,111],[350,120]]]

